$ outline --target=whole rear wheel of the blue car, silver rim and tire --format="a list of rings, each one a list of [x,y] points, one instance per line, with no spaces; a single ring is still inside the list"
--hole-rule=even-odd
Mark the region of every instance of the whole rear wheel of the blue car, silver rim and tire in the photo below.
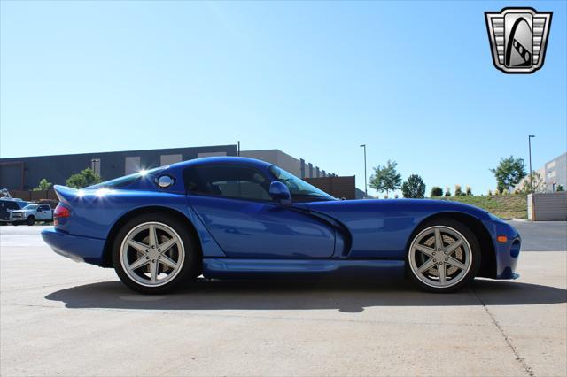
[[[162,294],[194,277],[198,253],[183,222],[149,213],[120,228],[113,245],[113,265],[130,289]]]

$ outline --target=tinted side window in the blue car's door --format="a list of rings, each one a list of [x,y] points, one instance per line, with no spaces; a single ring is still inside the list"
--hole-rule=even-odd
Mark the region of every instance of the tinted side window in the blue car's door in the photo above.
[[[187,193],[249,200],[271,200],[269,181],[256,169],[239,165],[205,165],[185,169]]]

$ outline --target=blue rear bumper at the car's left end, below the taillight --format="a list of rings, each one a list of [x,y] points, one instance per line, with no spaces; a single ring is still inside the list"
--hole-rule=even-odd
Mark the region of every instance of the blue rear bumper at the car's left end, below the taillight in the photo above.
[[[53,251],[66,258],[91,265],[103,265],[105,240],[69,235],[55,228],[44,229],[42,238]]]

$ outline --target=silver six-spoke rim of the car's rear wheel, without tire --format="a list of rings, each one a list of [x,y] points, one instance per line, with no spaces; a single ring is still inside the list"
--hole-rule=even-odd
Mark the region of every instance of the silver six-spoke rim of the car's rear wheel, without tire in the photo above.
[[[132,281],[159,287],[181,271],[185,249],[172,227],[145,222],[128,232],[120,245],[120,264]]]

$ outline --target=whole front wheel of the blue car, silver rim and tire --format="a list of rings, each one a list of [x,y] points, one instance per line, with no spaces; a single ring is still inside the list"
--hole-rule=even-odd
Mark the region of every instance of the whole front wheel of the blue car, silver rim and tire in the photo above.
[[[433,220],[416,232],[409,246],[409,275],[421,289],[453,292],[474,279],[480,254],[469,227],[454,219]]]

